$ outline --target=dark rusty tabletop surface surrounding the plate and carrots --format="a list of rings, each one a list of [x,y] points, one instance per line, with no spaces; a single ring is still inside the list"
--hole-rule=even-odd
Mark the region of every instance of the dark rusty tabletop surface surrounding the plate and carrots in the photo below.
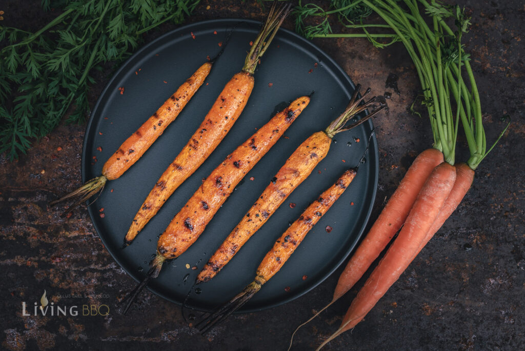
[[[525,125],[522,83],[525,6],[519,1],[460,1],[474,13],[465,45],[471,54],[489,141],[505,123],[512,126],[476,171],[463,203],[408,267],[364,322],[327,349],[523,349],[525,313],[525,216],[523,168]],[[210,6],[208,9],[207,6]],[[0,24],[35,30],[56,16],[39,2],[3,0]],[[186,23],[211,18],[264,18],[253,2],[203,1]],[[292,29],[290,19],[285,27]],[[146,42],[174,26],[163,25]],[[392,194],[418,152],[430,146],[427,119],[407,112],[418,94],[411,60],[397,44],[375,49],[364,39],[316,39],[355,82],[392,92],[390,113],[379,125],[380,178],[372,218]],[[385,88],[398,76],[399,94]],[[99,74],[95,101],[107,82]],[[425,116],[425,115],[424,115]],[[145,292],[133,313],[116,302],[135,285],[104,250],[80,209],[67,219],[47,202],[80,182],[85,126],[60,125],[15,162],[0,156],[0,345],[5,349],[286,349],[295,327],[327,303],[341,269],[309,294],[263,312],[236,315],[206,337],[188,327],[179,306]],[[463,145],[464,141],[460,140]],[[58,151],[58,148],[61,148]],[[459,153],[461,160],[464,154]],[[362,282],[358,284],[358,287]],[[101,316],[22,316],[44,288],[56,304],[108,304]],[[354,288],[303,328],[295,349],[312,349],[337,329],[357,292]],[[59,298],[56,295],[90,295]]]

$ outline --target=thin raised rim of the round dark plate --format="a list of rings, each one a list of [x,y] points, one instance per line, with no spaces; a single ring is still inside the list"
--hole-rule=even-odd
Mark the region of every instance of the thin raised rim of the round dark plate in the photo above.
[[[257,25],[257,26],[261,25],[261,22],[257,21],[257,20],[253,20],[253,19],[239,19],[239,18],[206,19],[206,20],[202,20],[202,21],[198,21],[198,22],[194,22],[194,23],[190,23],[190,24],[185,24],[183,26],[180,26],[180,27],[177,27],[175,29],[172,29],[169,32],[166,32],[165,34],[159,36],[158,38],[153,39],[150,43],[147,43],[144,46],[142,46],[140,49],[135,51],[135,53],[133,53],[127,60],[125,60],[120,65],[120,67],[116,71],[114,71],[114,73],[112,74],[111,78],[108,80],[106,86],[104,87],[104,89],[101,91],[99,97],[97,98],[97,102],[93,106],[93,109],[91,110],[91,113],[90,113],[90,116],[89,116],[89,119],[88,119],[88,122],[87,122],[87,125],[86,125],[86,130],[85,130],[85,133],[84,133],[84,140],[83,140],[83,143],[82,143],[82,154],[81,154],[81,178],[82,178],[82,183],[85,183],[86,179],[87,179],[87,167],[86,167],[86,163],[85,163],[86,162],[86,153],[87,153],[88,144],[90,143],[90,139],[91,139],[90,138],[90,134],[91,134],[90,131],[93,128],[93,123],[95,122],[95,115],[97,114],[98,109],[101,108],[102,100],[107,95],[107,93],[108,93],[108,91],[110,89],[110,86],[117,79],[117,77],[124,71],[124,69],[127,69],[127,66],[136,57],[138,57],[141,54],[143,54],[144,52],[148,51],[150,49],[150,47],[153,47],[156,44],[158,44],[159,42],[162,42],[162,40],[164,40],[167,37],[176,36],[177,34],[182,34],[183,32],[185,32],[187,30],[190,30],[191,28],[196,30],[194,27],[209,26],[209,25],[213,25],[213,24],[221,25],[221,26],[224,26],[225,24],[229,24],[229,25],[231,25],[233,27],[235,25],[239,25],[239,24],[243,24],[243,23],[246,23],[248,25]],[[279,28],[279,32],[281,32],[281,31],[285,32],[287,35],[292,36],[293,39],[299,40],[302,44],[306,44],[306,45],[310,46],[310,49],[313,49],[311,51],[309,50],[310,52],[317,51],[318,53],[320,53],[324,57],[323,58],[324,62],[329,63],[330,65],[332,65],[333,68],[335,68],[336,70],[339,70],[342,73],[342,75],[340,75],[338,77],[342,80],[343,84],[345,84],[345,85],[348,84],[348,85],[350,85],[350,87],[352,89],[355,89],[355,84],[352,81],[352,79],[350,78],[350,76],[346,73],[346,71],[331,56],[329,56],[327,53],[325,53],[320,47],[318,47],[316,44],[311,42],[311,40],[308,40],[308,39],[300,36],[299,34],[293,32],[292,30],[289,30],[289,29],[281,27],[281,28]],[[343,77],[344,77],[344,79],[342,79]],[[322,282],[327,280],[327,278],[330,275],[332,275],[341,266],[341,264],[343,262],[345,262],[346,259],[348,259],[348,256],[354,251],[356,245],[358,245],[358,243],[360,242],[361,236],[363,235],[363,232],[366,229],[366,226],[367,226],[367,224],[368,224],[368,222],[370,220],[370,216],[372,214],[372,210],[373,210],[374,204],[375,204],[375,198],[376,198],[376,195],[377,195],[377,184],[378,184],[378,181],[379,181],[379,149],[378,149],[378,145],[377,145],[376,135],[373,132],[374,131],[374,127],[373,127],[372,120],[369,119],[368,121],[363,123],[363,125],[368,126],[370,128],[371,132],[373,133],[372,138],[370,140],[370,146],[371,146],[370,149],[375,150],[375,162],[373,164],[374,169],[371,170],[372,173],[373,173],[373,181],[372,181],[373,189],[372,189],[372,194],[371,194],[372,199],[371,199],[371,203],[370,203],[370,208],[366,211],[366,214],[364,216],[364,224],[363,224],[362,228],[359,230],[359,233],[356,235],[356,240],[350,245],[349,249],[346,250],[346,252],[343,253],[341,260],[339,260],[339,262],[334,264],[328,270],[327,273],[322,274],[321,278],[319,278],[319,280],[317,282],[315,282],[314,284],[304,288],[301,291],[298,291],[297,293],[291,294],[289,297],[284,298],[284,299],[282,299],[282,300],[280,300],[278,302],[269,303],[267,305],[264,305],[264,306],[261,306],[261,307],[255,307],[255,308],[240,308],[238,311],[236,311],[236,313],[252,313],[252,312],[263,311],[265,309],[272,308],[272,307],[277,307],[277,306],[286,304],[286,303],[288,303],[290,301],[296,300],[296,298],[299,298],[299,297],[309,293],[314,288],[319,286]],[[92,131],[92,132],[94,132],[94,131]],[[369,149],[369,152],[370,152],[370,149]],[[88,204],[88,203],[89,203],[89,201],[86,201],[86,204]],[[102,244],[104,245],[104,249],[111,255],[112,259],[117,262],[117,264],[121,267],[122,270],[124,270],[124,272],[126,272],[130,277],[133,278],[133,280],[135,280],[136,282],[139,283],[141,281],[141,278],[138,277],[138,275],[135,274],[137,272],[131,272],[130,270],[128,270],[125,267],[125,265],[122,264],[121,260],[119,259],[118,254],[116,254],[116,253],[112,252],[110,249],[108,249],[109,246],[108,246],[107,240],[105,239],[104,235],[101,234],[101,231],[98,228],[97,222],[93,219],[94,216],[95,216],[95,213],[93,212],[92,206],[87,205],[87,210],[88,210],[88,214],[89,214],[91,223],[93,225],[93,228],[97,232],[98,237],[100,238]],[[155,290],[153,287],[150,287],[150,286],[146,285],[146,288],[150,292],[152,292],[154,295],[162,297],[166,301],[170,301],[170,302],[175,303],[177,305],[182,305],[183,304],[183,302],[175,300],[174,298],[172,298],[170,296],[167,296],[166,294],[163,294],[160,291]],[[190,308],[195,309],[197,311],[208,311],[207,309],[199,308],[198,306],[187,306],[187,307],[190,307]]]

